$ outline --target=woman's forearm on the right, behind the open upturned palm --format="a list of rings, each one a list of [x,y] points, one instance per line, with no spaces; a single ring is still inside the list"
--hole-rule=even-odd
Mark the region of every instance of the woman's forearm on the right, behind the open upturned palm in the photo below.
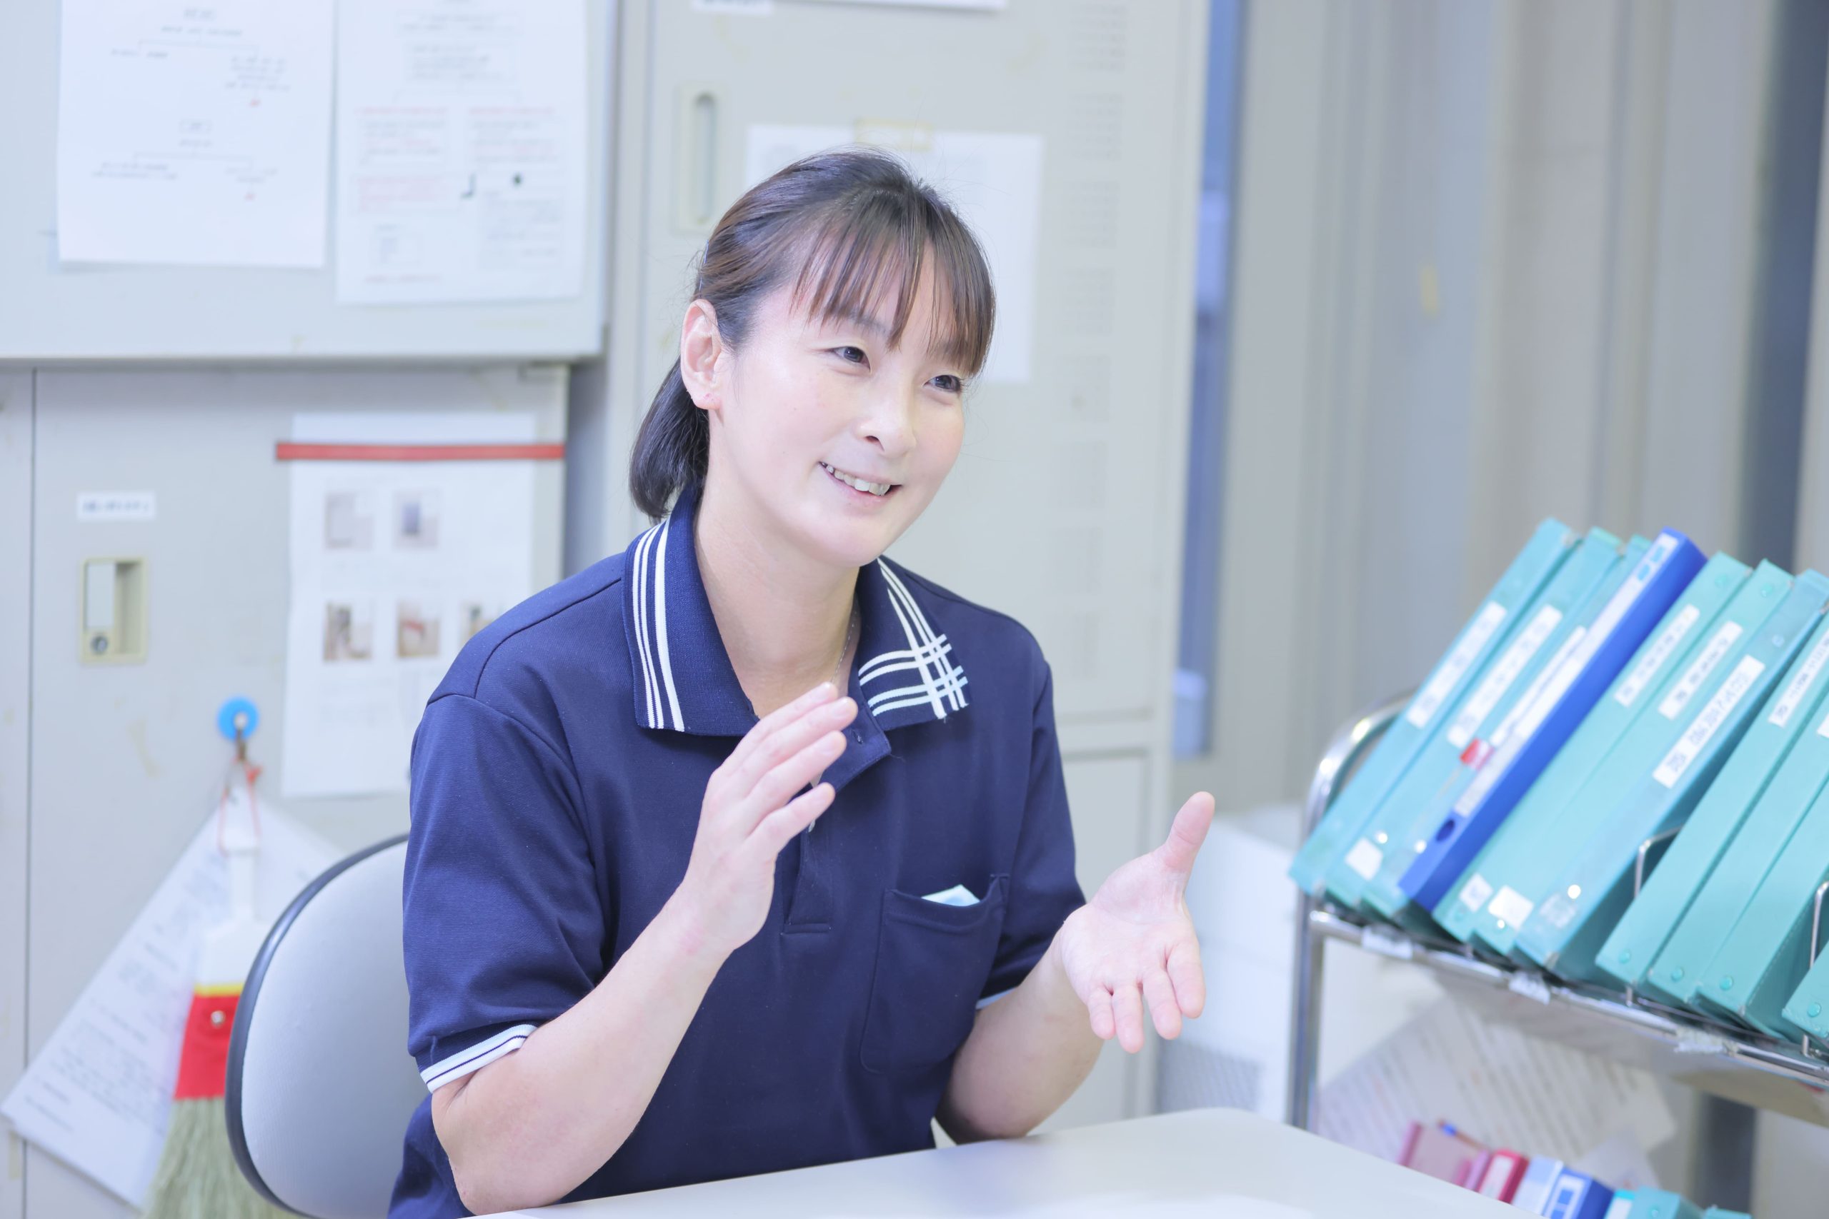
[[[1050,943],[1022,985],[979,1011],[940,1126],[957,1142],[1026,1135],[1085,1082],[1101,1045]]]

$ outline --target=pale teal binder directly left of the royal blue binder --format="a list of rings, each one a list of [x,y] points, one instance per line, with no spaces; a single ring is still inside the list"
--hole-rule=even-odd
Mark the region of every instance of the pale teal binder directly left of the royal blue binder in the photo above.
[[[1631,576],[1650,546],[1650,539],[1633,537],[1626,543],[1624,554],[1615,554],[1611,563],[1606,561],[1608,556],[1604,550],[1597,550],[1593,567],[1604,567],[1604,570],[1597,579],[1588,583],[1586,590],[1578,587],[1578,581],[1571,579],[1566,588],[1571,594],[1569,599],[1551,607],[1551,598],[1556,590],[1556,585],[1551,585],[1551,590],[1533,607],[1533,614],[1549,609],[1562,612],[1555,621],[1555,629],[1544,634],[1542,647],[1529,656],[1527,663],[1518,665],[1514,682],[1481,702],[1480,689],[1489,684],[1489,678],[1481,678],[1481,687],[1476,687],[1476,693],[1467,700],[1469,707],[1460,711],[1449,724],[1445,733],[1449,757],[1443,758],[1441,782],[1430,791],[1410,788],[1408,791],[1399,790],[1392,793],[1381,813],[1381,828],[1399,846],[1388,848],[1377,874],[1366,877],[1364,892],[1359,896],[1361,910],[1403,923],[1414,930],[1428,930],[1427,910],[1412,906],[1410,896],[1403,892],[1399,881],[1410,870],[1410,864],[1416,863],[1416,857],[1428,846],[1428,837],[1441,824],[1454,800],[1472,784],[1474,775],[1480,773],[1485,760],[1505,744],[1505,738],[1524,720],[1525,711],[1542,694],[1549,678],[1582,641],[1595,618],[1613,599],[1620,585],[1626,583],[1626,578]],[[1582,556],[1569,559],[1564,570],[1573,574],[1575,565],[1580,561]],[[1492,663],[1494,673],[1500,667],[1502,660]]]

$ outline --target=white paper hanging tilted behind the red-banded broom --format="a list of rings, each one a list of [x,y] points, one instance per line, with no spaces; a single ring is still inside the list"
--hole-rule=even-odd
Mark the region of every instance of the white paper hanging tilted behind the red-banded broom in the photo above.
[[[238,791],[225,813],[241,811]],[[338,855],[262,799],[256,914],[280,917]],[[165,1146],[198,949],[225,917],[229,864],[216,848],[212,813],[0,1104],[22,1139],[134,1206]]]

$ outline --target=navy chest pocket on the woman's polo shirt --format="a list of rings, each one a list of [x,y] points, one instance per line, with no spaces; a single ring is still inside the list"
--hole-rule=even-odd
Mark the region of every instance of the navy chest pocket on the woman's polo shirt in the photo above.
[[[1002,875],[991,877],[984,899],[971,906],[947,906],[894,888],[883,892],[876,972],[863,1016],[867,1071],[920,1071],[960,1047],[997,958],[1006,894]]]

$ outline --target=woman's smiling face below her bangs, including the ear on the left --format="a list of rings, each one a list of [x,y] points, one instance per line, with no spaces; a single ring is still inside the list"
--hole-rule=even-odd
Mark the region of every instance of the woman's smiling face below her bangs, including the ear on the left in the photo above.
[[[931,274],[894,347],[887,302],[876,316],[821,322],[788,287],[768,296],[743,347],[721,349],[710,393],[688,376],[711,411],[706,497],[741,504],[814,561],[874,561],[958,457],[964,369],[929,351],[935,316]],[[693,327],[688,313],[682,373]]]

